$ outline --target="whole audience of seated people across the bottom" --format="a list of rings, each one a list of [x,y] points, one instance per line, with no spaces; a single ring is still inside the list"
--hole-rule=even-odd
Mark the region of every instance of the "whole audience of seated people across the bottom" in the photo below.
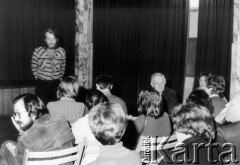
[[[139,115],[134,117],[128,115],[123,99],[111,93],[112,76],[101,74],[95,83],[84,103],[75,101],[79,85],[72,76],[61,80],[56,91],[59,100],[46,107],[34,94],[16,97],[12,122],[19,138],[2,144],[0,164],[21,165],[25,149],[55,151],[84,139],[100,148],[91,165],[148,164],[144,161],[147,152],[152,163],[159,164],[224,164],[240,159],[240,93],[227,103],[223,76],[200,74],[199,87],[180,104],[176,92],[165,87],[164,75],[154,73],[149,88],[138,94]],[[173,150],[158,148],[161,142],[152,141],[172,135],[178,142]],[[144,151],[143,139],[156,144]],[[223,149],[227,143],[235,146],[235,153]],[[200,145],[197,153],[196,144]]]

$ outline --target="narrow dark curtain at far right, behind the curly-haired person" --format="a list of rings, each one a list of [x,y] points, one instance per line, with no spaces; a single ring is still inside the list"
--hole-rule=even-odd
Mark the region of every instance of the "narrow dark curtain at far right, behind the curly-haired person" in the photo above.
[[[200,0],[196,75],[202,71],[223,75],[229,97],[231,44],[233,38],[233,0]]]

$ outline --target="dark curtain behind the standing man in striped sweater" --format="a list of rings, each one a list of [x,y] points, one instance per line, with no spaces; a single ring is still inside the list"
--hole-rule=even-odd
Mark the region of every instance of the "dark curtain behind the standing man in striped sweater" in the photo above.
[[[0,1],[0,80],[33,80],[30,62],[44,31],[56,28],[67,52],[67,74],[74,70],[74,0]],[[71,65],[70,65],[71,64]]]

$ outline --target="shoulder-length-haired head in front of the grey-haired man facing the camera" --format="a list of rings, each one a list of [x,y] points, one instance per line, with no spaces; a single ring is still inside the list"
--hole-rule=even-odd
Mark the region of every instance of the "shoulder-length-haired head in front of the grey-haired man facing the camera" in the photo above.
[[[144,89],[138,95],[138,111],[146,116],[160,117],[162,115],[160,103],[161,97],[153,89]]]

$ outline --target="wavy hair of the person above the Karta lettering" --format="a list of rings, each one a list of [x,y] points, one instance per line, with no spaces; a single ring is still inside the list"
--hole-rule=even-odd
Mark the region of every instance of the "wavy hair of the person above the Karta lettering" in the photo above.
[[[215,138],[215,125],[209,111],[197,104],[186,104],[177,107],[172,115],[176,132],[191,136],[200,136],[209,141]]]

